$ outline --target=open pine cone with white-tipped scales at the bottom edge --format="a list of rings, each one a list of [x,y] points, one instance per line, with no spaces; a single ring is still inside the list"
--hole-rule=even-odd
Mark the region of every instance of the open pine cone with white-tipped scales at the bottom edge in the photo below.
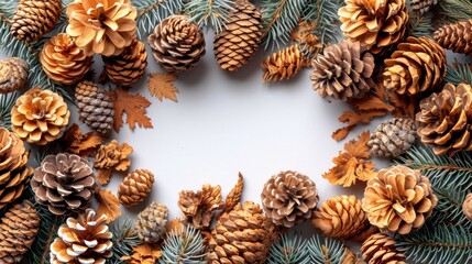
[[[97,216],[87,209],[75,218],[68,218],[57,231],[58,238],[51,244],[52,264],[105,264],[112,255],[113,234],[105,215]]]

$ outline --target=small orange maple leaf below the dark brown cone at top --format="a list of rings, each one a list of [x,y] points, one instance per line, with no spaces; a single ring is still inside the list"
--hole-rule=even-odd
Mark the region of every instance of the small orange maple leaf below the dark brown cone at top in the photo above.
[[[174,81],[176,79],[177,76],[173,74],[150,74],[150,77],[147,78],[147,89],[150,90],[151,96],[157,97],[160,101],[167,98],[177,102],[178,89],[174,86]]]

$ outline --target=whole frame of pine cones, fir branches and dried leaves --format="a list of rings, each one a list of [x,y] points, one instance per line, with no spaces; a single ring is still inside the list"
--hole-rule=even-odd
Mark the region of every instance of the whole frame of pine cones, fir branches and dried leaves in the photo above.
[[[0,61],[0,263],[471,262],[472,65],[446,53],[472,54],[470,0],[3,0],[0,18],[11,56]],[[391,116],[322,175],[365,182],[363,197],[320,204],[312,176],[286,170],[260,201],[242,201],[240,174],[227,195],[182,190],[182,218],[152,201],[120,219],[120,205],[143,202],[154,184],[132,167],[133,147],[109,136],[152,128],[151,102],[128,88],[156,63],[150,94],[176,101],[173,82],[209,41],[230,73],[276,48],[261,63],[265,82],[311,68],[315,91],[351,107],[333,140]],[[89,131],[72,123],[72,103]],[[377,169],[374,156],[391,166]],[[106,185],[120,172],[114,194]],[[305,221],[311,238],[293,232]]]

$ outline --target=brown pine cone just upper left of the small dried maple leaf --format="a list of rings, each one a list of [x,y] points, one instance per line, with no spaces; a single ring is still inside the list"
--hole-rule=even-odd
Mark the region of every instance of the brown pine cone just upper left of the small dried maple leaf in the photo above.
[[[147,66],[147,53],[144,43],[134,41],[120,55],[103,56],[101,78],[108,78],[119,86],[131,86],[144,75]]]

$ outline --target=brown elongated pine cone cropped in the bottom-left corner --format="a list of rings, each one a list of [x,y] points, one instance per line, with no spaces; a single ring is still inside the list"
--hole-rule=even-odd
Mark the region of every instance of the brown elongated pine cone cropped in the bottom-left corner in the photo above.
[[[0,263],[19,263],[40,229],[41,218],[29,200],[10,208],[0,219]]]

